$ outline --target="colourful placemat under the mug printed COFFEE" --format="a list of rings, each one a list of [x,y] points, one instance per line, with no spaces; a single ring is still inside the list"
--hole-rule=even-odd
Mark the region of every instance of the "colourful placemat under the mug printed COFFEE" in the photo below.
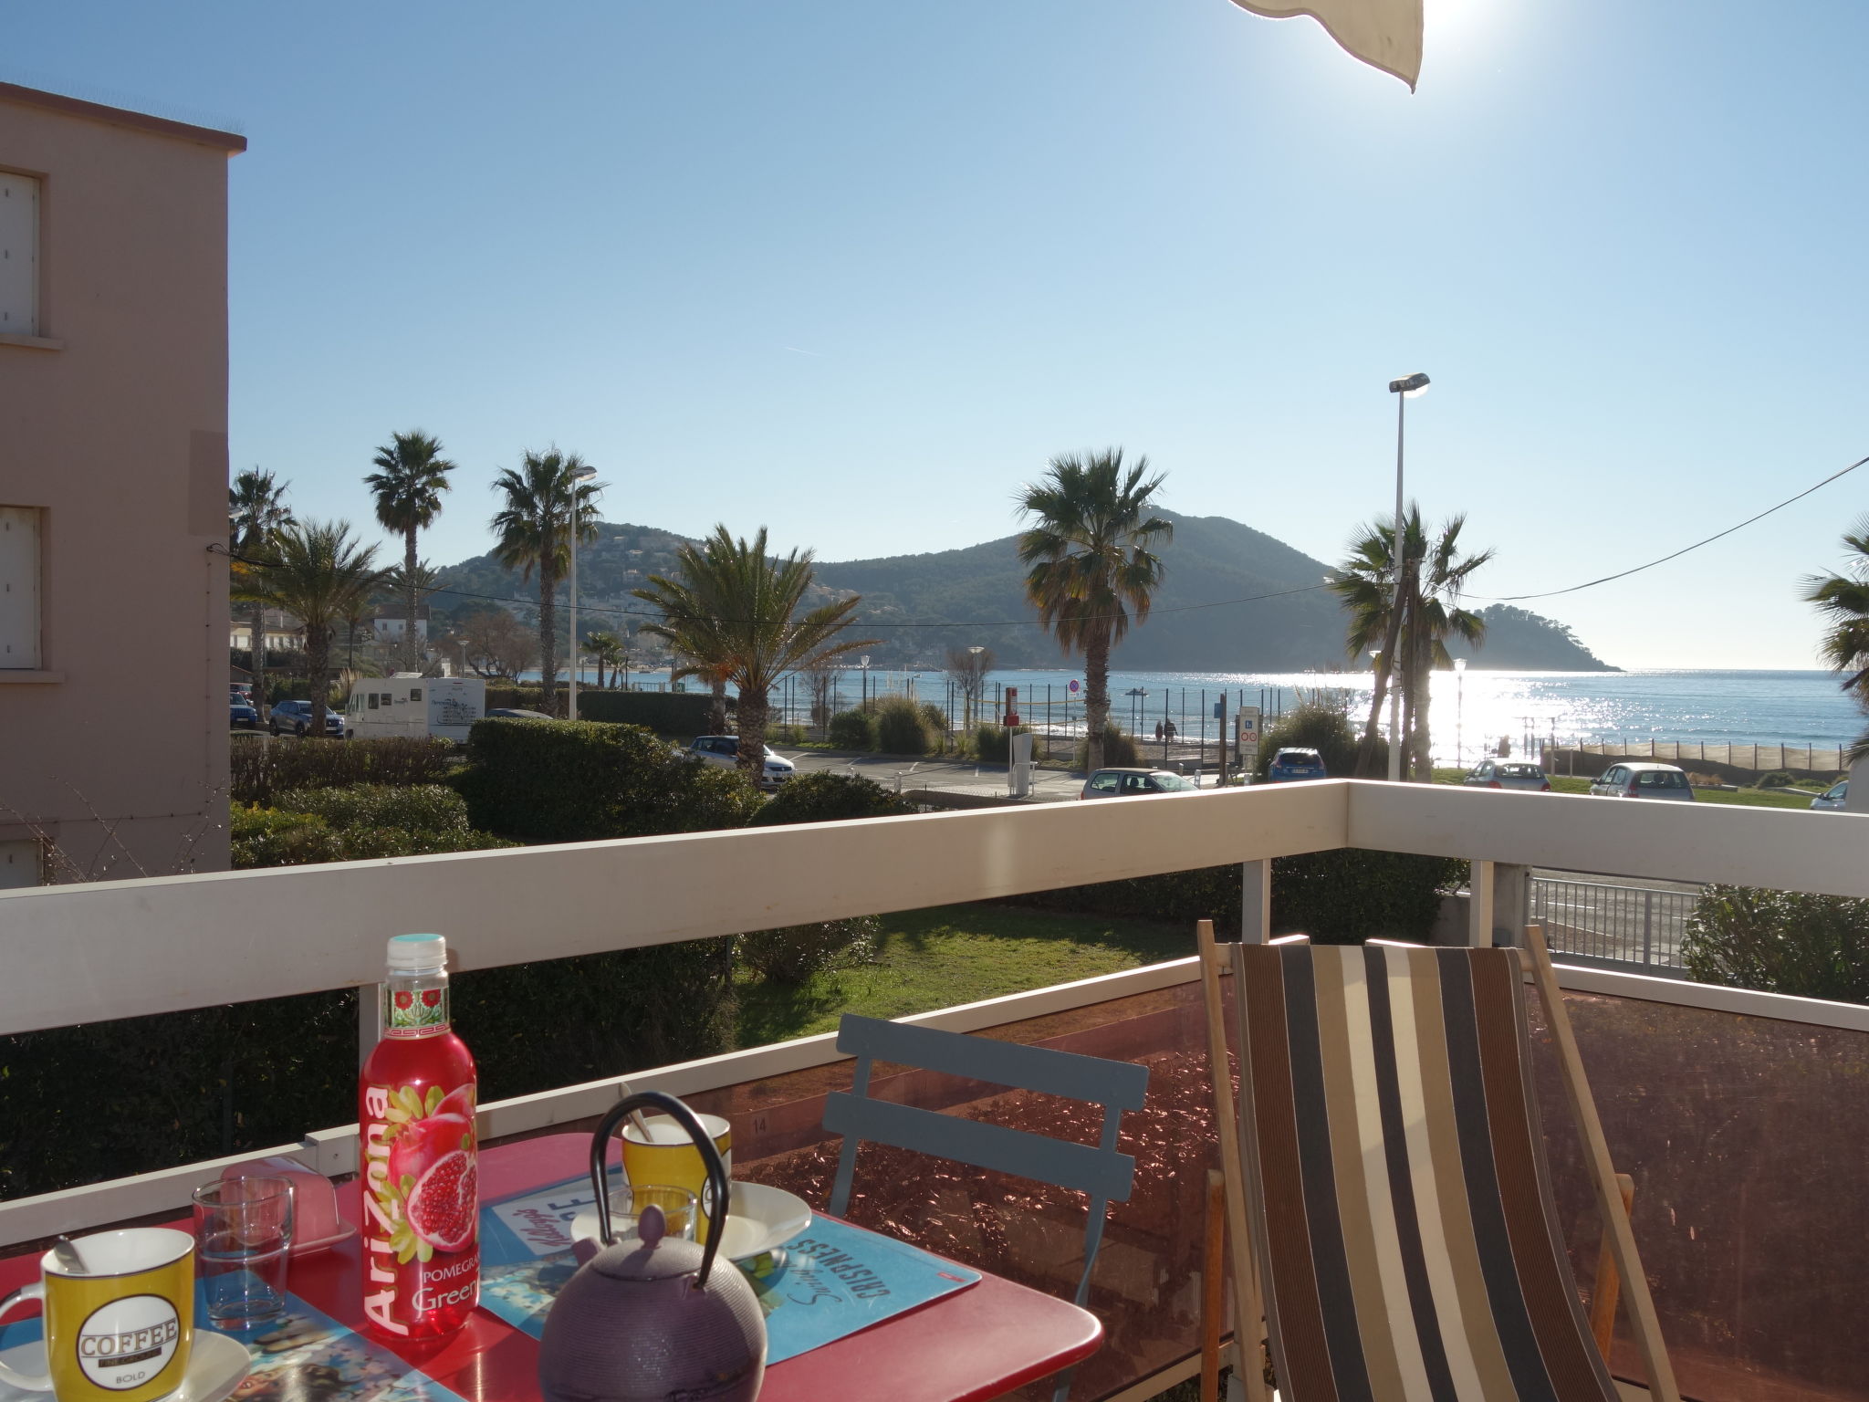
[[[207,1325],[207,1307],[196,1288],[196,1331]],[[297,1295],[286,1297],[278,1320],[254,1329],[213,1329],[252,1357],[239,1385],[243,1402],[464,1402],[419,1368],[338,1323]],[[39,1318],[0,1325],[0,1352],[43,1338]],[[0,1402],[49,1402],[50,1393],[22,1393],[0,1381]]]

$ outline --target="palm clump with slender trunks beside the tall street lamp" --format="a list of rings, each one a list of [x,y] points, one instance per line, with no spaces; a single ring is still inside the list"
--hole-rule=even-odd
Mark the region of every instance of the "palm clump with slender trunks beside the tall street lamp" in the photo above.
[[[1349,557],[1336,568],[1331,591],[1349,613],[1344,645],[1359,656],[1381,639],[1376,658],[1376,690],[1370,718],[1357,748],[1357,776],[1370,774],[1376,761],[1376,727],[1389,686],[1402,688],[1402,778],[1432,781],[1434,765],[1428,737],[1428,679],[1437,667],[1450,667],[1448,634],[1460,634],[1473,647],[1486,641],[1486,621],[1460,608],[1467,576],[1486,565],[1491,550],[1460,555],[1465,516],[1454,516],[1430,542],[1420,522],[1420,507],[1409,503],[1402,522],[1402,608],[1394,609],[1394,523],[1376,522],[1349,542]]]

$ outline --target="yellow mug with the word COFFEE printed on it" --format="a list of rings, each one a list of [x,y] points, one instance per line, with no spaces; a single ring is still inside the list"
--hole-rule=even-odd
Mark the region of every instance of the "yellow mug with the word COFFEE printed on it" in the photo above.
[[[45,1305],[43,1374],[0,1363],[0,1380],[58,1402],[151,1402],[181,1387],[194,1344],[194,1237],[168,1226],[82,1236],[86,1273],[54,1252],[39,1279],[0,1299],[0,1318],[28,1299]]]

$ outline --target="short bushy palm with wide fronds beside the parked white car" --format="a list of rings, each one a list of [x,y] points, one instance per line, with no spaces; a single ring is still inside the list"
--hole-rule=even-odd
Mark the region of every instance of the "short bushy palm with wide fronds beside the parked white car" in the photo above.
[[[755,783],[766,765],[766,710],[772,688],[789,671],[809,671],[873,637],[841,637],[860,598],[839,598],[802,617],[811,587],[813,553],[766,557],[766,527],[751,542],[735,540],[725,525],[697,544],[675,551],[678,579],[649,576],[635,598],[662,611],[639,632],[665,641],[686,662],[675,677],[720,677],[740,692],[740,772]],[[671,677],[669,680],[673,680]]]

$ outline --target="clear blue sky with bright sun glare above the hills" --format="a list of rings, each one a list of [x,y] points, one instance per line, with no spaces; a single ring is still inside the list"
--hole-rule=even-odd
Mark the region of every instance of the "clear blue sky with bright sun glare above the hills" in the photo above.
[[[1409,486],[1557,589],[1869,452],[1869,6],[1428,0],[1420,90],[1224,0],[0,0],[0,77],[237,125],[234,464],[424,553],[557,443],[611,520],[824,559],[1013,529],[1062,451],[1333,559]],[[1858,479],[1533,602],[1624,665],[1811,665]],[[1250,658],[1239,665],[1252,665]]]

